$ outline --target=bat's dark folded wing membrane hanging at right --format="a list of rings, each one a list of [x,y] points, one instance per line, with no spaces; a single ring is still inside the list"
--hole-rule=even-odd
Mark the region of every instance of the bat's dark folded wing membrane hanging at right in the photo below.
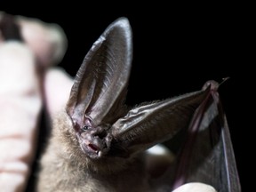
[[[218,192],[240,192],[236,160],[226,116],[212,84],[188,127],[187,137],[178,158],[174,188],[187,182],[203,182]]]

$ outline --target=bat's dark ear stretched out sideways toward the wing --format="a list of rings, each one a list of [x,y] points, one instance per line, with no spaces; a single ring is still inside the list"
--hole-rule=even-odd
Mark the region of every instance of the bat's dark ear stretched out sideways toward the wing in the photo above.
[[[113,124],[114,141],[109,154],[131,156],[170,140],[176,132],[188,127],[196,108],[209,92],[210,87],[133,108]]]

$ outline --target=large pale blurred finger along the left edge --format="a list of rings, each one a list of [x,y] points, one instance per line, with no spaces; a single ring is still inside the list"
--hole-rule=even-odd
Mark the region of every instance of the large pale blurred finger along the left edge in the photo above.
[[[26,188],[41,106],[35,55],[19,42],[0,44],[1,190]]]

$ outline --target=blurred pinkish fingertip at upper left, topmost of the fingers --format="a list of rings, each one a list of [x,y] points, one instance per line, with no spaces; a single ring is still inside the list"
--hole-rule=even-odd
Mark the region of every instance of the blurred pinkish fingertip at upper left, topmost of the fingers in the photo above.
[[[22,16],[17,20],[25,42],[36,53],[40,64],[49,66],[62,60],[68,40],[59,25]]]

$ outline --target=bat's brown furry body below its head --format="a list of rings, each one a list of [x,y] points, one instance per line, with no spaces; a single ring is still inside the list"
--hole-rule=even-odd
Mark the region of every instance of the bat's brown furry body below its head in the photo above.
[[[80,149],[72,121],[61,112],[41,160],[38,192],[149,191],[141,156],[92,161]]]

